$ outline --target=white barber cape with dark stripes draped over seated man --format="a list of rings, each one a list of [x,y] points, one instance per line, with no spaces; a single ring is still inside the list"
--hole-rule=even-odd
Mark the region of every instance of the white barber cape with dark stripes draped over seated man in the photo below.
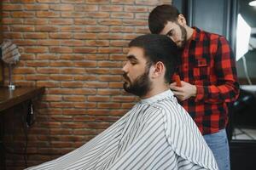
[[[195,122],[171,90],[143,99],[65,156],[29,170],[218,169]]]

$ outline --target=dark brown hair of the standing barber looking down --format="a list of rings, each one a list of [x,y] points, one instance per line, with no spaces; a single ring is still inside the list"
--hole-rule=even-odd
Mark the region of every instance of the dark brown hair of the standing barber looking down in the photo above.
[[[148,16],[148,27],[151,33],[159,34],[164,29],[167,21],[175,22],[180,13],[172,5],[160,5],[155,7]]]

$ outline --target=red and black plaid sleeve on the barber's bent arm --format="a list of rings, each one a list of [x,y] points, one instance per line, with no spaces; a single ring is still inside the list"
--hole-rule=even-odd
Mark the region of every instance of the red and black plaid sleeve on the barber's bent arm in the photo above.
[[[218,49],[214,63],[218,83],[210,86],[196,85],[195,100],[204,100],[212,104],[235,101],[239,94],[236,61],[230,45],[224,37],[218,39]]]

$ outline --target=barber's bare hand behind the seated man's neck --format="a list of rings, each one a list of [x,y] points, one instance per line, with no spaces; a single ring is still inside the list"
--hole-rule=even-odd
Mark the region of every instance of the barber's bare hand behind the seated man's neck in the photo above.
[[[196,95],[195,85],[189,84],[189,82],[181,81],[182,87],[177,87],[176,82],[170,84],[170,88],[177,99],[185,100]]]

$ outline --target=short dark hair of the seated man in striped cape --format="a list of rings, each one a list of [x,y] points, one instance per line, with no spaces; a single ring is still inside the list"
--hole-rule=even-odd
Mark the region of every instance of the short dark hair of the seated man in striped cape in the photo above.
[[[161,61],[166,66],[165,79],[170,83],[177,69],[178,49],[171,38],[164,35],[147,34],[133,39],[129,48],[143,48],[148,66]]]

